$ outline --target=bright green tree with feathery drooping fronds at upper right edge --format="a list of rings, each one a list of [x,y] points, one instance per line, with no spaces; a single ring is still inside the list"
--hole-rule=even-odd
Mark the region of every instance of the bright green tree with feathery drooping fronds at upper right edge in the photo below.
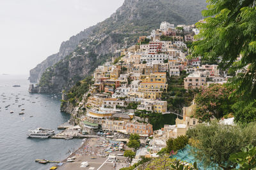
[[[248,104],[256,99],[256,10],[255,1],[209,0],[207,17],[198,22],[200,34],[191,47],[192,56],[202,60],[221,59],[220,68],[239,71],[230,78],[236,89],[232,97]]]

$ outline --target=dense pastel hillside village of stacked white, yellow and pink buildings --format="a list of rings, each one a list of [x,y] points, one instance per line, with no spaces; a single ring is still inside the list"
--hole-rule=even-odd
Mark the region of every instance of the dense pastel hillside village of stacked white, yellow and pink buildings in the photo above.
[[[76,106],[77,115],[86,112],[79,117],[79,125],[91,134],[116,132],[124,138],[139,134],[149,144],[150,151],[138,150],[133,163],[145,155],[157,157],[156,153],[166,146],[167,139],[185,135],[198,124],[198,119],[193,117],[196,107],[193,94],[190,106],[184,106],[180,113],[168,106],[163,97],[163,94],[171,95],[168,87],[172,83],[168,80],[184,78],[177,85],[182,92],[227,81],[227,75],[220,73],[217,63],[204,64],[200,57],[188,58],[189,45],[198,33],[195,25],[162,22],[159,29],[141,36],[136,45],[116,51],[120,57],[97,67],[89,91]],[[63,96],[63,101],[66,100],[67,96]],[[143,113],[173,114],[177,118],[173,125],[154,129],[148,118],[140,117]]]

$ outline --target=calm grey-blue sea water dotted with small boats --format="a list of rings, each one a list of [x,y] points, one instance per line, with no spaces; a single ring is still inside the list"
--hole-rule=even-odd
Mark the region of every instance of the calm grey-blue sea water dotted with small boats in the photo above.
[[[58,131],[58,125],[70,118],[60,112],[60,94],[29,94],[27,78],[0,75],[0,169],[49,169],[53,164],[38,164],[35,159],[61,161],[82,143],[81,139],[27,138],[28,130],[44,127]],[[22,108],[25,114],[19,115]]]

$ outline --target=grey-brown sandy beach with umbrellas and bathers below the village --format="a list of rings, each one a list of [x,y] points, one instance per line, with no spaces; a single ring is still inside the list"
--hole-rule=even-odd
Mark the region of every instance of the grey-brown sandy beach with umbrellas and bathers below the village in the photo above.
[[[111,148],[111,144],[108,143],[106,138],[88,138],[84,139],[83,145],[72,153],[68,158],[76,157],[74,162],[67,162],[67,159],[63,160],[63,165],[58,167],[61,170],[68,169],[120,169],[122,167],[127,167],[127,159],[120,154],[123,151],[113,151],[109,155],[115,155],[116,161],[109,160],[108,153],[105,151]],[[115,147],[113,147],[115,148]],[[112,149],[112,148],[111,148]],[[113,149],[112,149],[113,150]],[[104,155],[104,156],[103,156]],[[89,166],[80,167],[82,162],[88,162]]]

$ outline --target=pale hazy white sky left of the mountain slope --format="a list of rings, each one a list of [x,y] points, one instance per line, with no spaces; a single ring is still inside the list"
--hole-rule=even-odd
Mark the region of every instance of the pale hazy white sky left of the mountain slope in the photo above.
[[[0,74],[29,70],[124,0],[0,0]]]

